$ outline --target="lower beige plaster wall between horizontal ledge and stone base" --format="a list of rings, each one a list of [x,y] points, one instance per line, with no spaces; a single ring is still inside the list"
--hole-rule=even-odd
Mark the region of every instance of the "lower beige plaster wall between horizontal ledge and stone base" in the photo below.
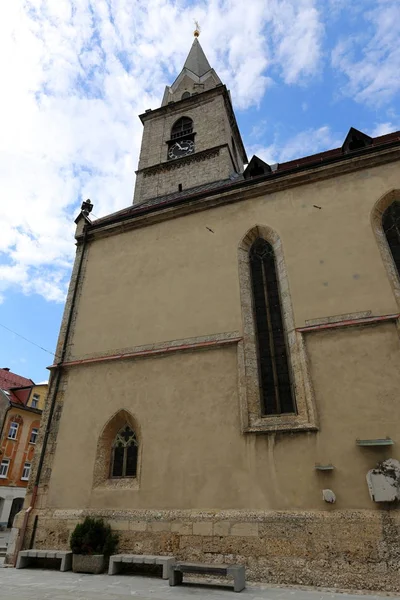
[[[48,506],[329,509],[329,487],[337,509],[374,508],[366,472],[400,455],[358,448],[356,438],[396,439],[400,429],[395,325],[318,333],[307,345],[319,433],[241,434],[235,348],[71,369]],[[139,487],[93,489],[98,438],[121,408],[140,424]],[[335,471],[318,473],[316,462]]]

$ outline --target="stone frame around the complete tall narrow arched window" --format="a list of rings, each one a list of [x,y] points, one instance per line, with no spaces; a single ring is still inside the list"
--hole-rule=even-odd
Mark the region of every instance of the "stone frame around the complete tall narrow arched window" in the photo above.
[[[275,253],[282,315],[287,336],[289,362],[295,395],[296,413],[293,414],[262,415],[249,263],[250,248],[253,242],[259,237],[269,242]],[[303,334],[296,331],[294,325],[289,280],[280,237],[271,227],[255,225],[248,230],[240,241],[238,262],[243,323],[243,341],[238,345],[242,431],[244,433],[317,431],[317,413],[305,342]]]

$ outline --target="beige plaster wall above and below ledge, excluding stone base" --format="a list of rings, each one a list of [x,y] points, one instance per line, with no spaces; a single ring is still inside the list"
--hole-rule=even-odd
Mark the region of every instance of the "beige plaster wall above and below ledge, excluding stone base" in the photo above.
[[[387,165],[96,240],[68,360],[240,333],[237,247],[255,224],[282,241],[295,326],[395,313],[371,212],[399,185],[397,166]],[[396,445],[361,449],[356,439],[397,439],[396,323],[304,336],[316,433],[241,433],[235,346],[69,368],[47,505],[330,510],[328,487],[336,508],[376,508],[366,472],[400,455]],[[98,438],[120,409],[140,426],[138,488],[93,488]],[[335,470],[318,474],[315,463]]]

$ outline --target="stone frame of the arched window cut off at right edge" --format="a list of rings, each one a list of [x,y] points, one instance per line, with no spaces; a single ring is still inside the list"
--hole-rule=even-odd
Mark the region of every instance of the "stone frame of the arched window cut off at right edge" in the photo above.
[[[371,226],[381,253],[382,261],[389,278],[397,304],[400,306],[400,276],[397,272],[392,252],[383,229],[382,218],[385,210],[395,201],[400,200],[400,189],[386,192],[377,200],[371,213]]]

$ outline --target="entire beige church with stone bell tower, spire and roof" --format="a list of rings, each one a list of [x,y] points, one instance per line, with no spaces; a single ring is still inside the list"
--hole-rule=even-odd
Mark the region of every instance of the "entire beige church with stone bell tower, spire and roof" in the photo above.
[[[399,592],[400,132],[249,160],[197,35],[133,204],[76,219],[7,561],[91,515],[121,552]]]

